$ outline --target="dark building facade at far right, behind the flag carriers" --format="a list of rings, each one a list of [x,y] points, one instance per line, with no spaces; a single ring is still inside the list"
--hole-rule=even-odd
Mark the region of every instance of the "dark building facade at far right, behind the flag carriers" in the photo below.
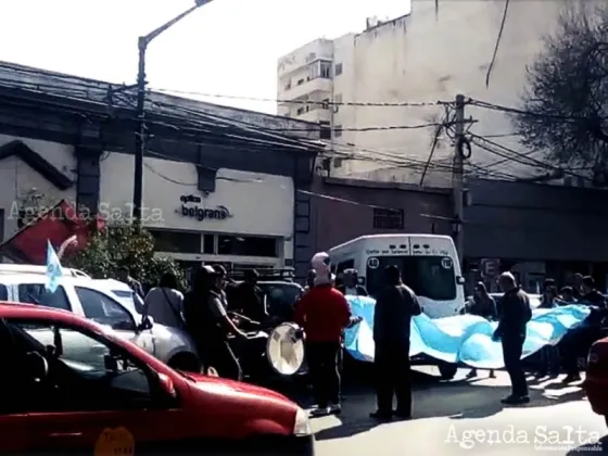
[[[592,275],[608,287],[606,190],[477,179],[465,207],[465,268],[495,286],[511,270],[528,290]],[[492,265],[492,271],[484,270]]]

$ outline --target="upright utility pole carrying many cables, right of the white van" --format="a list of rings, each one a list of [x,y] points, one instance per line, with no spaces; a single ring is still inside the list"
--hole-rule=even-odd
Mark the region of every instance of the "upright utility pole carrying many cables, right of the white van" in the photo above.
[[[465,220],[465,156],[463,154],[463,140],[465,137],[465,96],[456,96],[456,113],[454,118],[455,129],[455,145],[454,145],[454,162],[452,175],[452,189],[454,190],[454,235],[456,237],[456,251],[458,252],[458,259],[460,267],[465,259],[465,236],[464,236],[464,220]]]

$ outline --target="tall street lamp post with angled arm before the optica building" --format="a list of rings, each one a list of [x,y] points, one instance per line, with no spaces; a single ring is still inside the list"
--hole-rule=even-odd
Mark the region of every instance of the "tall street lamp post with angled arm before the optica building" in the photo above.
[[[199,8],[211,3],[212,0],[195,0],[194,5],[177,15],[155,30],[139,37],[139,71],[137,74],[137,122],[138,128],[135,136],[135,176],[134,176],[134,217],[141,220],[141,200],[143,194],[143,152],[145,150],[145,51],[154,38],[167,28],[177,24],[183,17],[193,13]]]

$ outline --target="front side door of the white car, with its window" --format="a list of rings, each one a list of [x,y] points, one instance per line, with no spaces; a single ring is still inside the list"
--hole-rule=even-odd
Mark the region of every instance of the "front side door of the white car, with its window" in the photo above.
[[[156,344],[150,329],[138,330],[140,321],[116,300],[99,290],[75,286],[74,291],[83,306],[85,317],[111,327],[116,333],[156,356]]]

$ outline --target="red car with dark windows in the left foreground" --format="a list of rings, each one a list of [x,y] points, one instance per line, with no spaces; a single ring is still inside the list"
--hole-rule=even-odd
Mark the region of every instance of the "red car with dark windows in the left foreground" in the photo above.
[[[314,454],[279,393],[173,370],[90,320],[0,303],[0,454]]]

